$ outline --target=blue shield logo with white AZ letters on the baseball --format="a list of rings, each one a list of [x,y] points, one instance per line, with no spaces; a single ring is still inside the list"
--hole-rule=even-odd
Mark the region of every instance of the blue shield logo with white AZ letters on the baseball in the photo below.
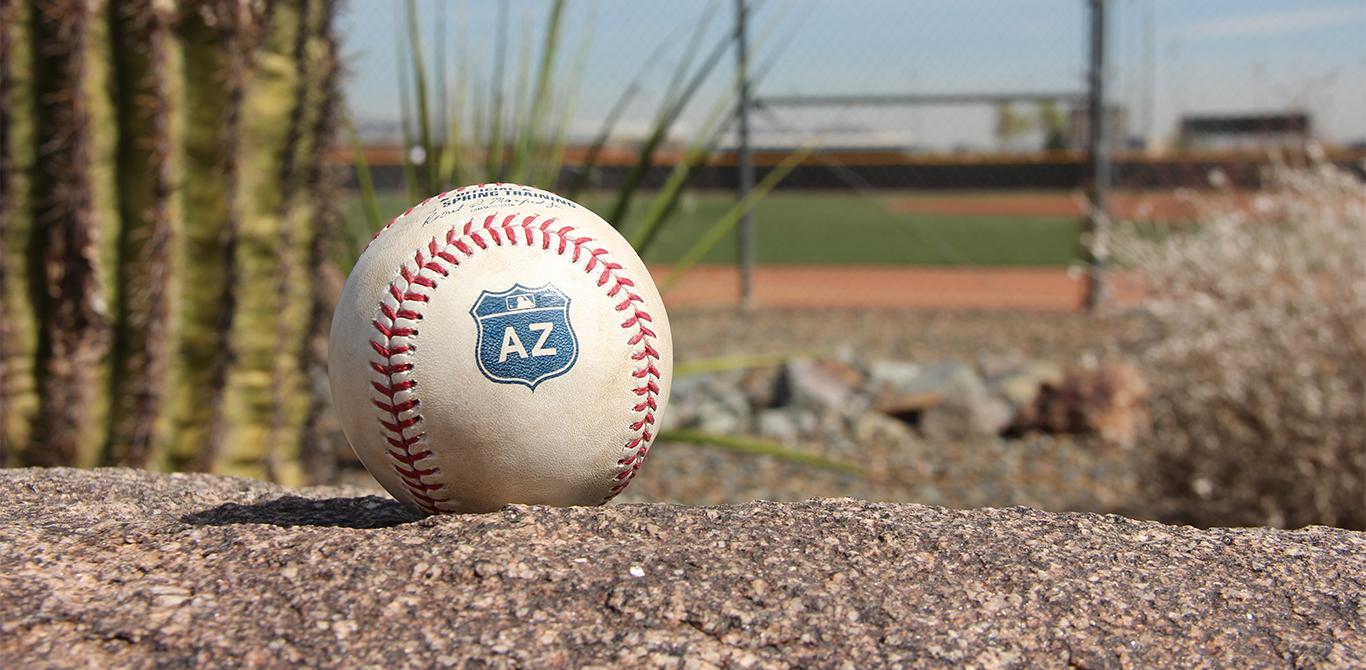
[[[484,291],[470,316],[479,328],[474,351],[479,372],[500,384],[535,391],[537,384],[564,375],[579,358],[579,340],[570,325],[570,297],[553,284]]]

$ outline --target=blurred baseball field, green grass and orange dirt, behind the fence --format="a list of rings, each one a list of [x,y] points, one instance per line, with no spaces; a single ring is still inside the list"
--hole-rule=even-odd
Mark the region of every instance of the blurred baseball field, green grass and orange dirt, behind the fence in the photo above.
[[[594,211],[611,194],[581,198]],[[647,205],[637,202],[623,230]],[[663,280],[669,265],[734,202],[734,194],[690,194],[645,254]],[[1112,197],[1120,219],[1187,220],[1172,193]],[[384,216],[407,206],[381,196]],[[350,216],[361,216],[351,201]],[[1085,286],[1068,267],[1081,260],[1082,200],[1072,191],[777,191],[755,211],[755,297],[768,306],[1023,309],[1068,312]],[[732,231],[671,290],[672,305],[728,305],[739,293]],[[1120,299],[1132,287],[1117,284]]]

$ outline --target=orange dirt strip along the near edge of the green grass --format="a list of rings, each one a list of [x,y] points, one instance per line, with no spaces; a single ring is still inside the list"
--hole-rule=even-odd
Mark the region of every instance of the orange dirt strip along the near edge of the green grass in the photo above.
[[[650,268],[656,280],[667,267]],[[1111,282],[1113,304],[1134,304],[1141,291],[1131,278]],[[694,268],[664,295],[669,306],[735,305],[739,272],[732,267]],[[1076,312],[1085,283],[1065,269],[930,269],[897,267],[766,265],[754,272],[755,304],[775,308],[981,309]]]

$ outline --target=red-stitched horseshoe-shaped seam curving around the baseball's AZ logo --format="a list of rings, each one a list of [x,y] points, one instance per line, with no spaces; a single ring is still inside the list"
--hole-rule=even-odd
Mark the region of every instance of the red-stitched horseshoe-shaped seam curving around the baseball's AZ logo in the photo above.
[[[428,198],[430,200],[433,198]],[[404,212],[404,216],[408,213],[411,209]],[[438,282],[447,279],[451,271],[460,265],[460,257],[473,257],[490,246],[535,247],[535,238],[540,237],[541,250],[561,257],[568,253],[572,264],[579,264],[581,258],[586,260],[585,273],[593,273],[601,267],[597,286],[607,289],[609,298],[622,295],[615,309],[628,313],[620,327],[627,332],[627,346],[632,347],[631,360],[639,365],[632,372],[638,386],[631,388],[637,395],[637,402],[631,407],[635,418],[628,427],[631,438],[622,447],[622,458],[617,459],[616,472],[601,502],[611,500],[626,490],[649,455],[658,412],[661,372],[656,365],[660,351],[654,346],[657,338],[652,328],[654,319],[645,309],[645,298],[631,290],[635,282],[620,273],[622,264],[612,261],[607,249],[591,245],[594,242],[591,237],[571,237],[575,228],[567,224],[550,230],[556,223],[553,217],[533,226],[537,217],[519,213],[489,215],[478,227],[473,219],[463,227],[451,227],[445,232],[444,242],[433,238],[426,245],[425,254],[423,249],[418,249],[411,261],[399,265],[376,309],[372,320],[376,335],[370,340],[376,358],[370,361],[370,368],[377,377],[370,383],[376,392],[372,403],[380,410],[378,424],[389,444],[385,448],[389,465],[423,511],[432,514],[444,511],[443,506],[452,503],[452,494],[441,481],[441,469],[422,464],[433,453],[426,448],[426,433],[422,431],[423,418],[413,361],[419,321]],[[515,223],[518,219],[520,223]]]

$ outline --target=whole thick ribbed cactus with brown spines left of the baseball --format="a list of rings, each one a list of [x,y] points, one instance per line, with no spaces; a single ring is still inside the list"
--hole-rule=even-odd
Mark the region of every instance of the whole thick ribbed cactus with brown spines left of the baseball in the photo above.
[[[302,479],[335,11],[0,0],[0,464]]]

